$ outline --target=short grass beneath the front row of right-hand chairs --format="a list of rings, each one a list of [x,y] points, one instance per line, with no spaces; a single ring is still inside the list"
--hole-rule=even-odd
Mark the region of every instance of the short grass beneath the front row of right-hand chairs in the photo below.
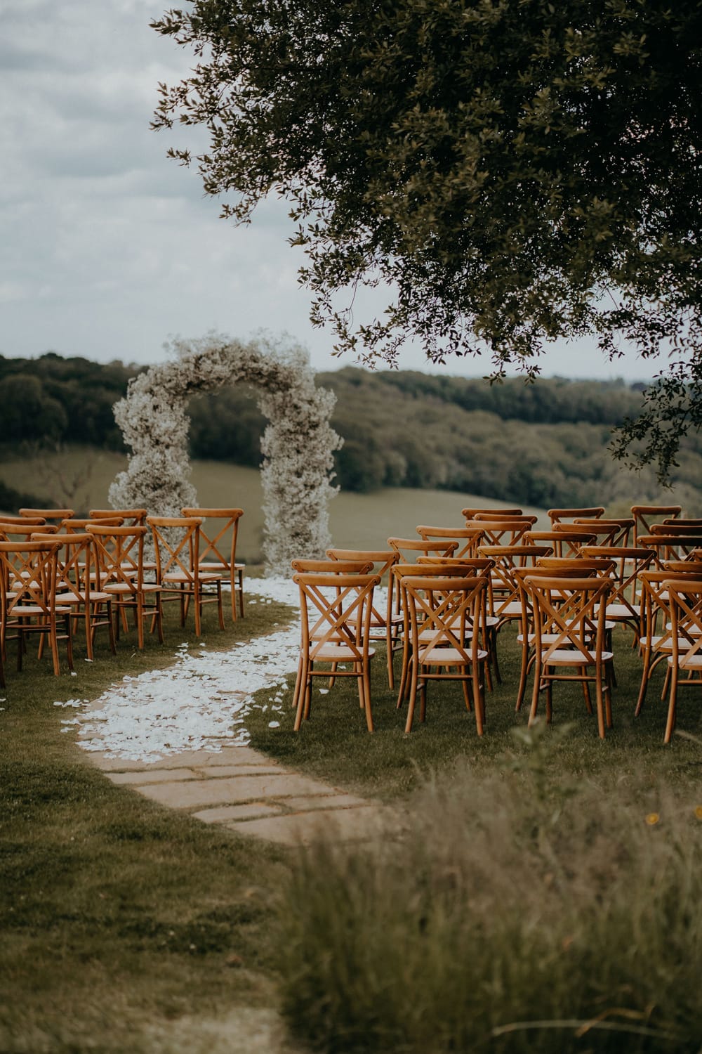
[[[405,736],[406,711],[396,708],[397,696],[387,687],[384,653],[379,649],[372,663],[376,727],[373,735],[365,730],[353,680],[337,681],[326,695],[320,694],[318,681],[313,688],[310,719],[303,723],[299,734],[293,731],[292,716],[288,722],[281,722],[280,728],[269,728],[265,714],[254,709],[246,722],[252,745],[301,772],[387,799],[413,790],[423,775],[450,767],[458,758],[464,759],[476,773],[487,776],[506,752],[520,749],[515,744],[513,729],[524,729],[527,723],[528,701],[519,714],[514,708],[519,678],[519,652],[514,636],[509,628],[500,633],[503,682],[486,694],[486,727],[481,739],[476,733],[474,716],[465,710],[460,686],[436,684],[429,684],[427,689],[425,724],[420,724],[416,717],[412,733]],[[623,782],[636,778],[649,788],[645,794],[654,802],[662,778],[680,786],[694,785],[700,779],[702,750],[680,736],[676,736],[671,746],[663,744],[666,707],[660,701],[658,678],[649,685],[641,717],[634,718],[641,663],[630,648],[630,632],[615,633],[619,685],[613,702],[615,727],[607,731],[604,742],[598,737],[596,718],[585,710],[580,687],[556,685],[553,727],[556,730],[567,723],[573,728],[549,760],[550,778],[554,781],[574,775],[602,778],[611,783],[615,795]],[[399,665],[397,660],[396,664]],[[292,684],[290,679],[290,689]],[[260,692],[259,699],[263,705],[266,694]],[[290,701],[292,690],[288,690],[283,702]],[[678,729],[700,735],[701,717],[698,694],[680,692]]]

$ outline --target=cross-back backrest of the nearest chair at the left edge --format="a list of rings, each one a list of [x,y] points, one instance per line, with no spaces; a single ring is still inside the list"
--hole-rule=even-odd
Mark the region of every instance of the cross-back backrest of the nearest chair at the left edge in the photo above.
[[[0,596],[3,619],[21,618],[23,608],[38,608],[40,618],[56,612],[56,569],[59,544],[0,542]]]

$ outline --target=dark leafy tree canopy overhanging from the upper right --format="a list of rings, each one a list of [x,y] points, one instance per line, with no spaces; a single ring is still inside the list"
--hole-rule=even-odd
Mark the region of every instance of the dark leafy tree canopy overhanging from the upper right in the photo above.
[[[548,340],[625,338],[671,357],[619,453],[675,461],[702,422],[700,0],[190,0],[154,26],[198,57],[155,126],[209,136],[169,153],[226,217],[290,201],[339,350],[533,375]]]

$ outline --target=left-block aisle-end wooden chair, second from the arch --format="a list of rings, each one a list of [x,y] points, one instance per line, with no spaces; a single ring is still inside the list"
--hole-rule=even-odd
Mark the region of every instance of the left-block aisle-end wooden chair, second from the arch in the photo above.
[[[180,624],[184,626],[192,601],[196,637],[200,636],[202,628],[203,606],[215,603],[220,629],[224,629],[222,579],[217,571],[204,573],[200,569],[201,518],[146,516],[146,523],[152,529],[154,539],[156,577],[161,588],[161,603],[168,600],[178,601]],[[206,586],[214,586],[214,596],[206,593]]]

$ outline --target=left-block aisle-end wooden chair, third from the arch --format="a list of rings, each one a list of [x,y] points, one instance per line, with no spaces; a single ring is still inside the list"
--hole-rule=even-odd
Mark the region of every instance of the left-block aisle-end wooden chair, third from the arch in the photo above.
[[[100,589],[115,602],[115,636],[119,640],[120,616],[126,609],[135,614],[139,650],[144,647],[144,621],[152,620],[163,643],[161,586],[144,581],[144,538],[146,527],[105,527],[95,523],[85,528],[95,543]],[[149,599],[153,603],[148,603]]]

